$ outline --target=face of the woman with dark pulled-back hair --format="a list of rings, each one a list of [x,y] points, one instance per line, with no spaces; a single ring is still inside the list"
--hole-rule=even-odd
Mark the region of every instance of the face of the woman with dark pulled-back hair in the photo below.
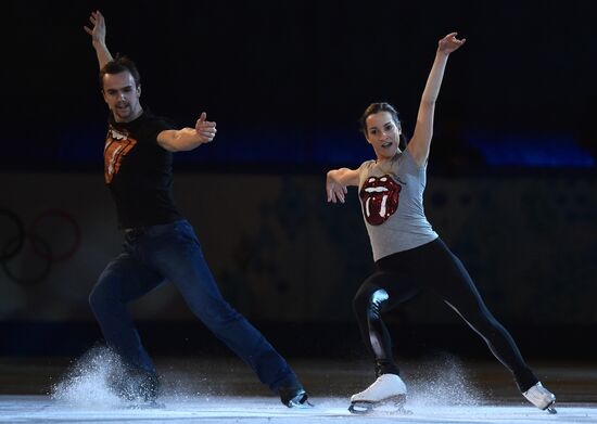
[[[367,125],[367,141],[378,159],[391,158],[398,152],[401,129],[392,118],[390,112],[378,112],[365,119]]]

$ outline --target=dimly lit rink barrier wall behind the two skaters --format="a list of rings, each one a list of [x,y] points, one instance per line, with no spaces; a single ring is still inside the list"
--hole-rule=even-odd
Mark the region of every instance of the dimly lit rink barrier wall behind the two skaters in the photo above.
[[[92,319],[87,296],[122,242],[102,176],[0,179],[0,319]],[[328,205],[323,182],[176,176],[177,204],[221,291],[251,319],[353,320],[352,297],[372,270],[370,248],[356,190],[347,204]],[[430,178],[425,207],[500,320],[596,323],[596,189],[594,177]],[[18,253],[15,217],[26,229]],[[419,322],[456,320],[432,296],[415,301],[406,311]],[[190,318],[172,285],[131,309],[138,319]]]

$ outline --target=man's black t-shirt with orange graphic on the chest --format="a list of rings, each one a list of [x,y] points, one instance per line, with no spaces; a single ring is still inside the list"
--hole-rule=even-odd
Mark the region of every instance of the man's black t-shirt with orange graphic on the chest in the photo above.
[[[157,144],[157,134],[173,129],[148,112],[130,123],[111,114],[104,147],[104,178],[116,203],[119,227],[173,222],[182,216],[173,195],[173,154]]]

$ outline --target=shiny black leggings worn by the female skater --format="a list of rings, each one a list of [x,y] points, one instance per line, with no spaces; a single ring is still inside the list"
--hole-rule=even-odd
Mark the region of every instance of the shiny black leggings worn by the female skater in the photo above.
[[[386,256],[376,266],[378,271],[365,280],[354,298],[354,310],[363,341],[376,359],[378,375],[398,373],[381,313],[430,288],[483,337],[512,372],[521,391],[537,383],[515,341],[488,311],[462,262],[442,240]]]

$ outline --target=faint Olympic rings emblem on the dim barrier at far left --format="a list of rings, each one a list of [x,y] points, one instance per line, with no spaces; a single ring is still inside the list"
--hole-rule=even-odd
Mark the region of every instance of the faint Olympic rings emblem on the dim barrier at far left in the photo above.
[[[7,277],[16,284],[30,286],[41,283],[48,278],[55,262],[71,258],[80,245],[80,228],[73,216],[64,210],[42,211],[27,230],[13,211],[0,209],[0,218],[2,217],[8,217],[16,231],[11,231],[11,236],[2,240],[0,262]],[[64,230],[64,223],[69,231]],[[56,244],[63,246],[59,247]],[[17,269],[21,269],[21,272]]]

